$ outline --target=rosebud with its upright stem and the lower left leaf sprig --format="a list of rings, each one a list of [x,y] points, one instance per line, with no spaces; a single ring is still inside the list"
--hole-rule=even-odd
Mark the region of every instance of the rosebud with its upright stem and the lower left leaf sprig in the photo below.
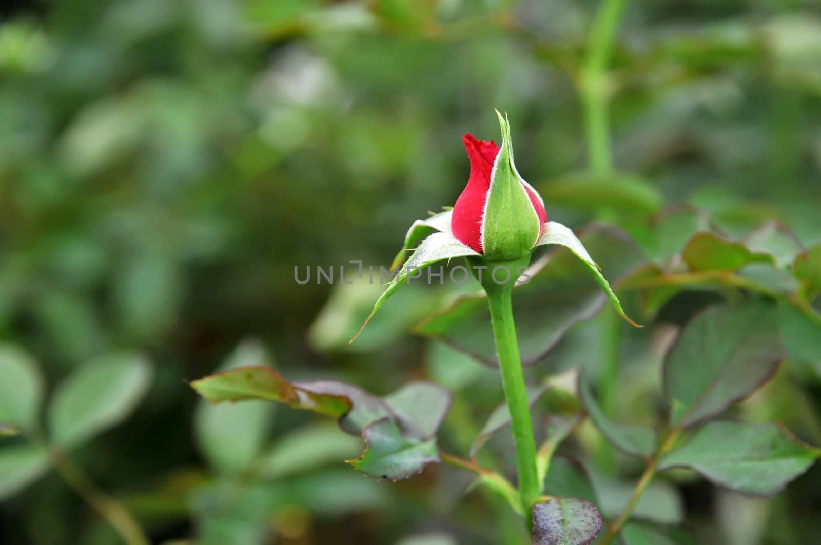
[[[534,250],[542,245],[562,245],[585,263],[618,314],[631,320],[581,241],[561,223],[547,222],[544,202],[516,170],[507,117],[496,113],[502,130],[501,148],[493,140],[465,136],[470,158],[465,190],[454,208],[410,227],[394,266],[401,264],[407,250],[418,247],[378,298],[354,339],[379,307],[407,282],[411,272],[443,260],[468,259],[473,270],[479,271],[475,276],[487,296],[507,420],[516,447],[517,487],[500,474],[456,456],[440,454],[435,436],[450,409],[452,396],[429,382],[416,382],[379,398],[340,382],[291,383],[271,369],[249,367],[203,378],[192,386],[213,402],[261,398],[337,417],[343,430],[361,434],[365,439],[365,453],[350,463],[372,477],[406,479],[429,463],[447,460],[479,474],[520,515],[533,511],[534,522],[538,523],[557,509],[574,510],[576,516],[589,523],[581,530],[582,537],[595,535],[602,519],[588,501],[565,498],[556,503],[543,497],[545,464],[549,459],[537,462],[530,398],[513,322],[512,290]],[[492,268],[492,272],[483,277],[481,270],[487,268]],[[495,274],[499,268],[505,270],[501,281]]]

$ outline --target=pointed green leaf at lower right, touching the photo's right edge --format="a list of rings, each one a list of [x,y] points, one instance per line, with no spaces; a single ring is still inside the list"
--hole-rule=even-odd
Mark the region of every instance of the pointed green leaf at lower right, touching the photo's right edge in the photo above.
[[[780,424],[713,422],[663,456],[658,468],[694,469],[736,492],[772,497],[819,456],[821,449],[799,442]]]

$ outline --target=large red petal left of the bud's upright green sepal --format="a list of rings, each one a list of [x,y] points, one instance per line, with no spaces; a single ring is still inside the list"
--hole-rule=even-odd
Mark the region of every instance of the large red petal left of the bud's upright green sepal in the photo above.
[[[499,147],[493,140],[476,140],[472,135],[465,135],[462,140],[470,158],[470,178],[453,206],[451,231],[457,240],[481,253],[484,204],[488,199],[490,173]]]

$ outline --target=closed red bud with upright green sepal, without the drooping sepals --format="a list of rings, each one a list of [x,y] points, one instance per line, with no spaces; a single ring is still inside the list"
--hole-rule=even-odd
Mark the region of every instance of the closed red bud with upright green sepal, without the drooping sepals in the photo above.
[[[456,199],[453,236],[491,260],[521,259],[544,231],[544,201],[513,163],[510,126],[499,112],[502,148],[465,135],[470,178]]]

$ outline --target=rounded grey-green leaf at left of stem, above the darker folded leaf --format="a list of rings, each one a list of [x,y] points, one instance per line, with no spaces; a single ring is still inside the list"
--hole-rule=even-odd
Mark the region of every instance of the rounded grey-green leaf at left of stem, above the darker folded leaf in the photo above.
[[[384,400],[403,434],[427,439],[442,427],[453,395],[446,387],[432,382],[410,382]]]

